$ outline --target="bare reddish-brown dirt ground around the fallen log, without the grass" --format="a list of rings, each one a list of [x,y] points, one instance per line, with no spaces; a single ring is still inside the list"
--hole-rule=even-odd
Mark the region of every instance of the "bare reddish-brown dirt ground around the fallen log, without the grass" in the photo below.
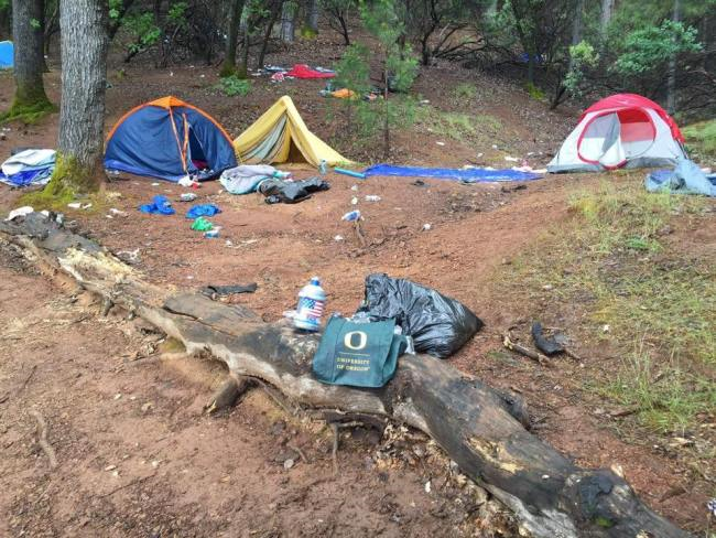
[[[330,49],[323,58],[330,60]],[[301,58],[282,52],[270,63]],[[337,52],[335,54],[338,54]],[[455,67],[430,69],[419,89],[435,101],[459,82],[484,82]],[[58,95],[56,72],[47,75]],[[316,95],[318,82],[273,85],[257,79],[247,98],[211,89],[213,69],[127,68],[109,76],[107,129],[127,109],[172,93],[204,107],[238,134],[275,98],[292,95],[308,126],[330,138]],[[476,106],[508,126],[505,140],[475,148],[443,148],[431,133],[400,134],[401,163],[464,165],[482,152],[492,165],[507,153],[547,153],[569,129],[568,111],[551,114],[508,83],[492,79],[492,92]],[[10,100],[11,80],[0,77],[0,108]],[[54,147],[57,118],[37,126],[13,125],[0,140],[0,155],[20,146]],[[312,175],[294,170],[296,177]],[[67,220],[141,269],[153,282],[194,289],[206,284],[257,282],[252,294],[232,299],[265,321],[294,306],[296,293],[317,275],[328,292],[328,311],[350,313],[371,272],[406,277],[457,298],[486,329],[451,361],[488,383],[521,392],[535,418],[535,432],[587,466],[619,466],[657,512],[685,528],[701,528],[713,476],[695,475],[686,460],[652,439],[636,439],[618,421],[596,413],[600,402],[581,390],[581,380],[611,367],[603,349],[583,343],[577,364],[560,359],[545,370],[507,356],[496,361],[500,335],[530,313],[519,297],[500,297],[500,269],[546,229],[568,223],[566,201],[577,189],[621,175],[561,175],[514,184],[463,185],[410,179],[366,181],[329,174],[332,189],[297,205],[263,203],[262,196],[231,196],[217,182],[196,191],[199,203],[223,213],[213,218],[221,236],[205,239],[189,229],[185,190],[166,182],[127,176],[108,185],[117,193],[107,207],[67,211]],[[153,184],[158,183],[158,184]],[[18,192],[0,186],[0,208],[14,207]],[[137,206],[155,194],[173,201],[174,216],[143,215]],[[379,195],[380,202],[367,202]],[[365,245],[340,216],[364,215]],[[115,207],[127,216],[110,218]],[[430,229],[425,229],[430,225]],[[713,230],[713,227],[712,227]],[[702,245],[713,245],[704,233]],[[0,268],[0,443],[4,458],[0,521],[6,536],[489,536],[511,532],[508,517],[495,515],[484,492],[459,486],[456,473],[417,437],[395,449],[390,435],[358,431],[345,439],[340,472],[333,474],[330,438],[319,424],[295,423],[259,391],[230,415],[207,418],[203,404],[220,379],[211,363],[163,364],[130,358],[147,355],[161,335],[120,318],[96,315],[85,295],[52,288],[2,252]],[[565,320],[565,323],[574,320]],[[58,466],[48,469],[39,448],[39,410],[50,427]],[[412,434],[409,434],[411,437]],[[404,437],[404,434],[403,434]],[[297,454],[300,448],[308,462]],[[415,450],[417,452],[415,453]],[[412,452],[411,452],[412,451]],[[381,454],[386,455],[384,458]],[[294,461],[291,469],[286,460]],[[448,476],[449,475],[449,476]],[[425,483],[441,483],[426,493]],[[4,526],[4,527],[2,527]]]

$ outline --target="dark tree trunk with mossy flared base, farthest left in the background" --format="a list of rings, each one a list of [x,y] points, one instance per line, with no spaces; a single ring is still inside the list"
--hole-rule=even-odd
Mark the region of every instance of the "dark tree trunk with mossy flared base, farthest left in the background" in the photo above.
[[[44,0],[12,1],[15,95],[7,118],[28,118],[53,109],[45,94]]]

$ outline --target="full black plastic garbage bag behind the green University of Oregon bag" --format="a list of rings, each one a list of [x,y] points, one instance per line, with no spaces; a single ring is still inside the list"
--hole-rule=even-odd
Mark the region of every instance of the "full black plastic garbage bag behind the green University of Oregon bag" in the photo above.
[[[366,299],[359,311],[375,320],[394,318],[403,334],[412,336],[416,352],[438,358],[449,357],[484,325],[459,301],[384,273],[366,277]]]

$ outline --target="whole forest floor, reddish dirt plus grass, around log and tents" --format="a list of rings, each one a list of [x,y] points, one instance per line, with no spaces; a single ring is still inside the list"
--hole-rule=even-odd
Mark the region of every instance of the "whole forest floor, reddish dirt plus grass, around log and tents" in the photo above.
[[[341,51],[330,40],[319,49],[321,57],[308,57],[303,46],[275,51],[269,63],[330,65]],[[376,153],[340,132],[334,103],[318,95],[321,82],[257,77],[247,97],[230,98],[215,88],[216,69],[198,65],[122,66],[108,78],[107,130],[131,107],[172,94],[237,136],[288,94],[308,127],[345,155],[368,162]],[[46,80],[57,101],[58,73]],[[513,163],[505,157],[516,157],[543,168],[576,120],[574,110],[549,111],[509,80],[449,64],[425,69],[416,92],[430,109],[395,133],[395,163],[507,168]],[[12,79],[2,75],[0,108],[11,96]],[[57,115],[7,128],[0,155],[17,147],[52,148]],[[186,205],[178,202],[184,189],[147,179],[113,182],[111,201],[66,215],[113,252],[134,254],[131,262],[153,282],[187,289],[257,282],[254,293],[231,300],[265,321],[293,308],[313,275],[328,292],[329,312],[352,312],[371,272],[410,278],[459,299],[486,327],[449,359],[455,366],[522,394],[538,435],[582,465],[620,470],[653,509],[696,531],[706,523],[706,499],[716,494],[708,356],[708,323],[716,321],[716,205],[648,198],[641,195],[644,173],[424,186],[410,179],[328,174],[329,191],[272,206],[258,194],[231,196],[208,182],[196,191],[197,202],[221,208],[213,218],[221,226],[219,239],[189,229]],[[177,214],[140,214],[137,206],[155,194],[170,197]],[[366,202],[366,195],[381,200]],[[0,187],[0,209],[17,206],[19,196]],[[354,208],[354,196],[365,218],[365,245],[340,220]],[[128,216],[110,218],[110,207]],[[634,212],[651,217],[625,217]],[[91,299],[51,288],[11,249],[0,254],[0,509],[10,515],[0,521],[3,536],[514,531],[507,514],[485,503],[481,489],[462,486],[440,451],[412,432],[384,439],[362,430],[346,434],[334,475],[328,432],[286,416],[258,391],[230,413],[207,418],[202,407],[220,379],[218,366],[144,358],[161,335],[138,322],[100,318]],[[683,278],[686,288],[694,282],[696,291],[657,280],[654,268]],[[608,295],[609,289],[619,293]],[[625,305],[622,299],[632,295],[633,304]],[[685,298],[690,302],[682,304]],[[688,323],[664,321],[661,311]],[[643,312],[654,315],[637,316]],[[529,343],[533,320],[558,326],[582,359],[558,357],[547,368],[503,351],[502,334],[510,327]],[[705,330],[694,329],[704,323]],[[682,325],[683,337],[674,338]],[[664,336],[674,340],[665,343]],[[637,344],[653,362],[646,370],[630,362]],[[641,386],[629,383],[637,374],[646,375]],[[662,380],[681,391],[658,391]],[[55,469],[36,443],[33,409],[48,424]]]

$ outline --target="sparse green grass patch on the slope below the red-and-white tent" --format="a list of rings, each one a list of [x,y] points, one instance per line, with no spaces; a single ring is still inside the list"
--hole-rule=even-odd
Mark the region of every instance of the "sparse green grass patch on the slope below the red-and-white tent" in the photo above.
[[[585,336],[608,340],[622,357],[611,377],[587,388],[636,406],[653,430],[681,430],[716,408],[716,260],[690,257],[665,238],[675,218],[701,218],[705,202],[647,193],[641,176],[627,180],[575,193],[571,226],[524,252],[505,283],[534,298],[549,283],[565,309],[579,303]]]

